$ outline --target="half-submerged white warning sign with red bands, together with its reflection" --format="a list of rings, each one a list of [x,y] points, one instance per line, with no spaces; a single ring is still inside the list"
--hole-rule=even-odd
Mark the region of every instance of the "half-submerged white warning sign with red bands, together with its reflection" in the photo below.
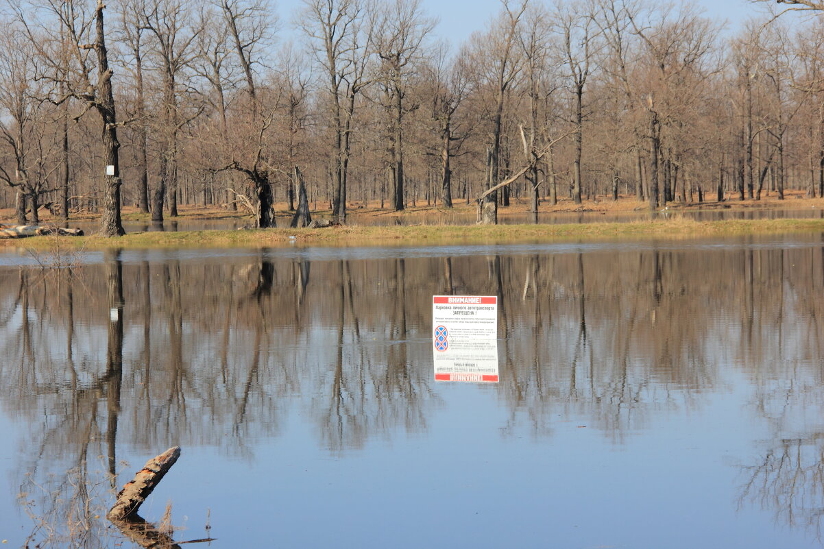
[[[498,298],[432,298],[435,380],[498,382]]]

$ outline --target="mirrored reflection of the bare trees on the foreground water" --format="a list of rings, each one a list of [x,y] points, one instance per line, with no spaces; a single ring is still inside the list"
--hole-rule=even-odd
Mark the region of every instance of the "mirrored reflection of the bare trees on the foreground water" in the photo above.
[[[499,398],[504,441],[580,417],[631,448],[725,395],[746,406],[742,429],[766,433],[738,464],[742,508],[817,529],[824,244],[744,243],[371,260],[112,251],[77,270],[3,269],[0,401],[30,441],[14,483],[71,471],[68,499],[96,490],[104,505],[123,453],[180,444],[252,460],[296,415],[338,457],[424,436],[446,404],[432,295],[497,295],[500,382],[477,390]],[[94,523],[81,511],[64,509]]]

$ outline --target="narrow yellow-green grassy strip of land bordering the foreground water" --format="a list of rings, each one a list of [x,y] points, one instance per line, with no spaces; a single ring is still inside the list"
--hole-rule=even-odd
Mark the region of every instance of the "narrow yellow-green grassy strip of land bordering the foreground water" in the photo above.
[[[0,240],[2,247],[63,248],[207,248],[288,246],[368,246],[419,244],[497,244],[515,242],[597,241],[736,237],[824,232],[824,219],[693,221],[669,219],[630,223],[564,225],[277,228],[243,231],[133,232],[124,237],[30,237]]]

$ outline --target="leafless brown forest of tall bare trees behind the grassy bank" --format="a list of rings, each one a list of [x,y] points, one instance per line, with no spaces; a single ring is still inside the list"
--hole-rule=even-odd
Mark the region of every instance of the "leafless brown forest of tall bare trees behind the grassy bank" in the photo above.
[[[794,3],[794,2],[785,2]],[[806,3],[806,2],[805,2]],[[815,2],[810,2],[815,4]],[[0,208],[386,209],[485,197],[824,195],[824,23],[737,33],[635,0],[503,0],[462,44],[419,0],[9,0]]]

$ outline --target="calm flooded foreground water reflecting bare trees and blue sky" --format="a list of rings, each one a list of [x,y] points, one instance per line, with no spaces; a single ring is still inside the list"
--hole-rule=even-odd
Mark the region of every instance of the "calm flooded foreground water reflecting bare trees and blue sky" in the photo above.
[[[132,547],[173,445],[141,515],[209,547],[822,546],[824,235],[79,265],[0,256],[8,547]],[[435,381],[436,294],[499,382]]]

